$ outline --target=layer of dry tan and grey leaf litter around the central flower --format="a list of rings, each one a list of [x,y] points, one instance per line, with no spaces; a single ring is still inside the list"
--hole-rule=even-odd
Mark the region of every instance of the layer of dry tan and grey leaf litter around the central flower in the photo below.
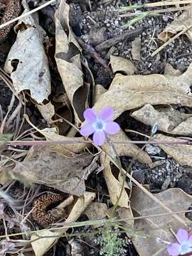
[[[11,4],[13,2],[10,1]],[[36,3],[33,2],[33,5]],[[22,6],[24,14],[30,10],[24,0]],[[17,6],[9,7],[8,4],[6,10],[12,7]],[[16,9],[16,16],[20,13],[20,7]],[[19,129],[18,119],[21,117],[11,113],[8,124],[16,124],[18,133],[13,142],[10,141],[12,138],[7,139],[6,144],[2,142],[0,203],[3,209],[1,223],[5,232],[0,234],[0,238],[6,239],[6,247],[2,242],[1,251],[4,255],[6,252],[14,252],[9,245],[11,233],[6,231],[6,225],[11,223],[7,217],[11,209],[11,218],[21,218],[14,225],[18,226],[21,222],[19,228],[21,232],[24,230],[20,243],[16,236],[13,239],[14,247],[20,248],[22,253],[32,248],[35,255],[48,255],[48,250],[58,246],[59,239],[65,245],[70,244],[65,238],[70,235],[68,229],[71,225],[82,235],[91,234],[91,230],[93,233],[97,232],[99,227],[113,227],[114,230],[118,227],[133,242],[136,250],[132,249],[130,255],[168,255],[166,243],[174,242],[171,231],[176,232],[181,225],[191,225],[191,220],[185,215],[191,206],[191,196],[179,188],[169,186],[166,186],[169,189],[165,191],[151,193],[148,187],[135,180],[130,170],[137,162],[146,164],[149,168],[155,164],[158,166],[157,162],[162,158],[165,161],[172,158],[184,169],[192,165],[192,66],[189,65],[181,72],[166,63],[164,75],[160,72],[139,74],[137,62],[142,61],[143,48],[142,38],[138,37],[137,31],[134,31],[135,39],[130,47],[132,58],[114,54],[114,45],[118,45],[126,37],[123,35],[122,39],[117,40],[118,36],[114,34],[114,37],[107,39],[106,34],[104,35],[105,28],[100,28],[101,33],[98,32],[98,38],[93,42],[94,49],[89,46],[90,42],[87,44],[86,40],[82,41],[78,32],[74,31],[70,20],[72,7],[72,4],[60,0],[58,4],[45,9],[51,22],[55,21],[55,34],[52,35],[55,37],[52,38],[55,41],[55,60],[51,60],[51,65],[50,55],[44,49],[46,39],[50,39],[49,27],[48,24],[47,27],[45,24],[42,26],[41,16],[37,12],[21,18],[14,26],[14,31],[10,31],[12,25],[6,27],[6,32],[5,29],[0,30],[0,39],[6,38],[9,33],[16,33],[16,39],[4,62],[4,70],[10,77],[5,79],[3,76],[2,79],[4,78],[4,82],[9,79],[13,82],[11,90],[21,101],[20,105],[23,105],[22,122],[25,124],[23,126],[22,123]],[[92,11],[92,3],[81,3],[81,8]],[[159,34],[159,39],[167,41],[174,34],[183,31],[190,23],[190,19],[186,17],[191,17],[190,10],[183,11],[181,16],[166,26]],[[8,19],[11,18],[14,17]],[[89,18],[93,24],[94,18],[95,16]],[[5,21],[3,17],[1,23]],[[110,31],[109,26],[107,27]],[[138,29],[142,33],[142,29]],[[92,26],[92,30],[97,33],[97,26]],[[191,29],[186,31],[189,39],[190,31]],[[103,57],[102,51],[109,48],[110,51],[105,52],[106,58]],[[90,49],[91,58],[87,57],[87,49]],[[105,87],[95,83],[97,72],[91,64],[95,60],[97,72],[100,70],[97,68],[99,63],[106,69],[107,75],[110,75],[110,82]],[[105,63],[109,63],[109,67]],[[60,84],[58,88],[54,87],[55,77]],[[28,114],[28,102],[38,110],[39,117],[43,118],[41,125],[34,122]],[[113,119],[119,123],[121,130],[99,147],[92,144],[91,139],[80,137],[79,129],[85,125],[83,113],[86,108],[92,107],[100,113],[106,106],[114,110]],[[6,112],[2,112],[1,116],[6,116]],[[6,118],[2,124],[6,123]],[[130,120],[137,124],[134,129],[129,127]],[[130,137],[127,136],[127,128],[131,129],[129,131],[132,131],[134,137],[130,132]],[[1,133],[4,135],[4,129],[1,129]],[[145,149],[146,138],[152,146],[158,145],[162,149],[155,154],[157,161]],[[127,171],[119,165],[120,156],[132,159]],[[14,180],[14,183],[10,183],[10,180]],[[32,203],[38,202],[42,193],[57,193],[59,198],[65,199],[58,206],[51,206],[54,196],[49,199],[43,196],[43,207],[48,216],[52,216],[50,220],[56,220],[56,223],[53,225],[50,222],[48,229],[38,230],[42,227],[38,227],[37,221],[34,225],[31,210],[34,206]],[[46,201],[50,203],[49,210]],[[23,210],[20,208],[22,204]],[[41,207],[38,214],[43,218]],[[87,216],[86,224],[82,223],[84,229],[80,228],[83,216]],[[75,223],[77,220],[78,223]],[[105,220],[110,220],[109,227]],[[87,230],[85,226],[88,227]],[[11,231],[12,234],[16,233],[14,226],[11,226]],[[95,238],[97,239],[97,235]],[[97,246],[93,241],[87,241],[91,247]],[[129,250],[131,245],[129,242]],[[99,255],[100,249],[102,248],[97,247],[95,255]]]

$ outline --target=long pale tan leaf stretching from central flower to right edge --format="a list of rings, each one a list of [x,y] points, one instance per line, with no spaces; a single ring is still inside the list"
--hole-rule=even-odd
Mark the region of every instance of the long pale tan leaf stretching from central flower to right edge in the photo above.
[[[110,89],[100,96],[94,109],[106,105],[114,109],[114,119],[126,110],[151,105],[192,106],[192,64],[183,75],[115,75]]]

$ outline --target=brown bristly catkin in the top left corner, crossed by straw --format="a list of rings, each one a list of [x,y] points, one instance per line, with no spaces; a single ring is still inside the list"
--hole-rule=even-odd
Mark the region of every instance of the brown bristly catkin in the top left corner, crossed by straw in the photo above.
[[[6,9],[4,11],[4,16],[1,18],[1,24],[6,23],[7,21],[11,21],[13,18],[17,18],[21,13],[21,2],[20,0],[7,0],[6,1]],[[0,28],[0,41],[6,39],[11,28],[15,23],[11,23],[4,28]]]

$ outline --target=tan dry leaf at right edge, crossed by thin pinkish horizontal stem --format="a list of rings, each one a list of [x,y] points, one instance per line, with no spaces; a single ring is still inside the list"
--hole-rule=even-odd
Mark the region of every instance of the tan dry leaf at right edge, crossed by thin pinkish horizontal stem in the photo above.
[[[176,159],[178,164],[181,166],[192,166],[191,145],[166,144],[166,142],[183,142],[183,139],[177,139],[163,134],[156,134],[155,138],[158,139],[159,142],[165,142],[165,144],[159,144],[159,147],[163,149],[166,154]]]

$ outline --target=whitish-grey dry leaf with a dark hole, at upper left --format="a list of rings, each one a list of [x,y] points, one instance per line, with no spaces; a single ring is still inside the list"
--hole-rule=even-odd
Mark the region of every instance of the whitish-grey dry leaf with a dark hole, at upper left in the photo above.
[[[28,12],[28,4],[24,0],[22,3],[23,13]],[[4,70],[11,74],[16,94],[30,90],[33,100],[42,104],[50,95],[48,58],[42,43],[45,32],[31,15],[21,18],[16,29],[16,42],[9,51]]]

